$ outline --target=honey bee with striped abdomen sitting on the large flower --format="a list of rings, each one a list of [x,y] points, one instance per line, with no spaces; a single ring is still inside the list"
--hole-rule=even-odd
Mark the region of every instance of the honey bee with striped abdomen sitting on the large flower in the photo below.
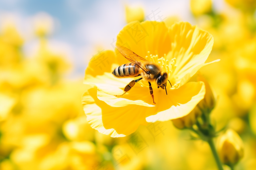
[[[166,85],[167,85],[167,81],[169,81],[167,72],[164,72],[162,68],[156,63],[147,61],[146,59],[135,54],[128,48],[125,48],[119,45],[116,45],[116,48],[131,63],[120,65],[112,72],[112,74],[114,74],[116,77],[119,77],[119,78],[141,76],[141,78],[132,80],[128,85],[125,86],[124,94],[128,92],[135,85],[135,83],[143,79],[145,81],[148,81],[149,91],[150,91],[150,95],[152,96],[153,103],[155,103],[155,101],[154,101],[151,82],[155,82],[157,84],[157,88],[161,87],[162,89],[165,89],[165,92],[167,95]],[[170,81],[169,83],[172,86]],[[115,95],[115,96],[122,96],[122,95]]]

